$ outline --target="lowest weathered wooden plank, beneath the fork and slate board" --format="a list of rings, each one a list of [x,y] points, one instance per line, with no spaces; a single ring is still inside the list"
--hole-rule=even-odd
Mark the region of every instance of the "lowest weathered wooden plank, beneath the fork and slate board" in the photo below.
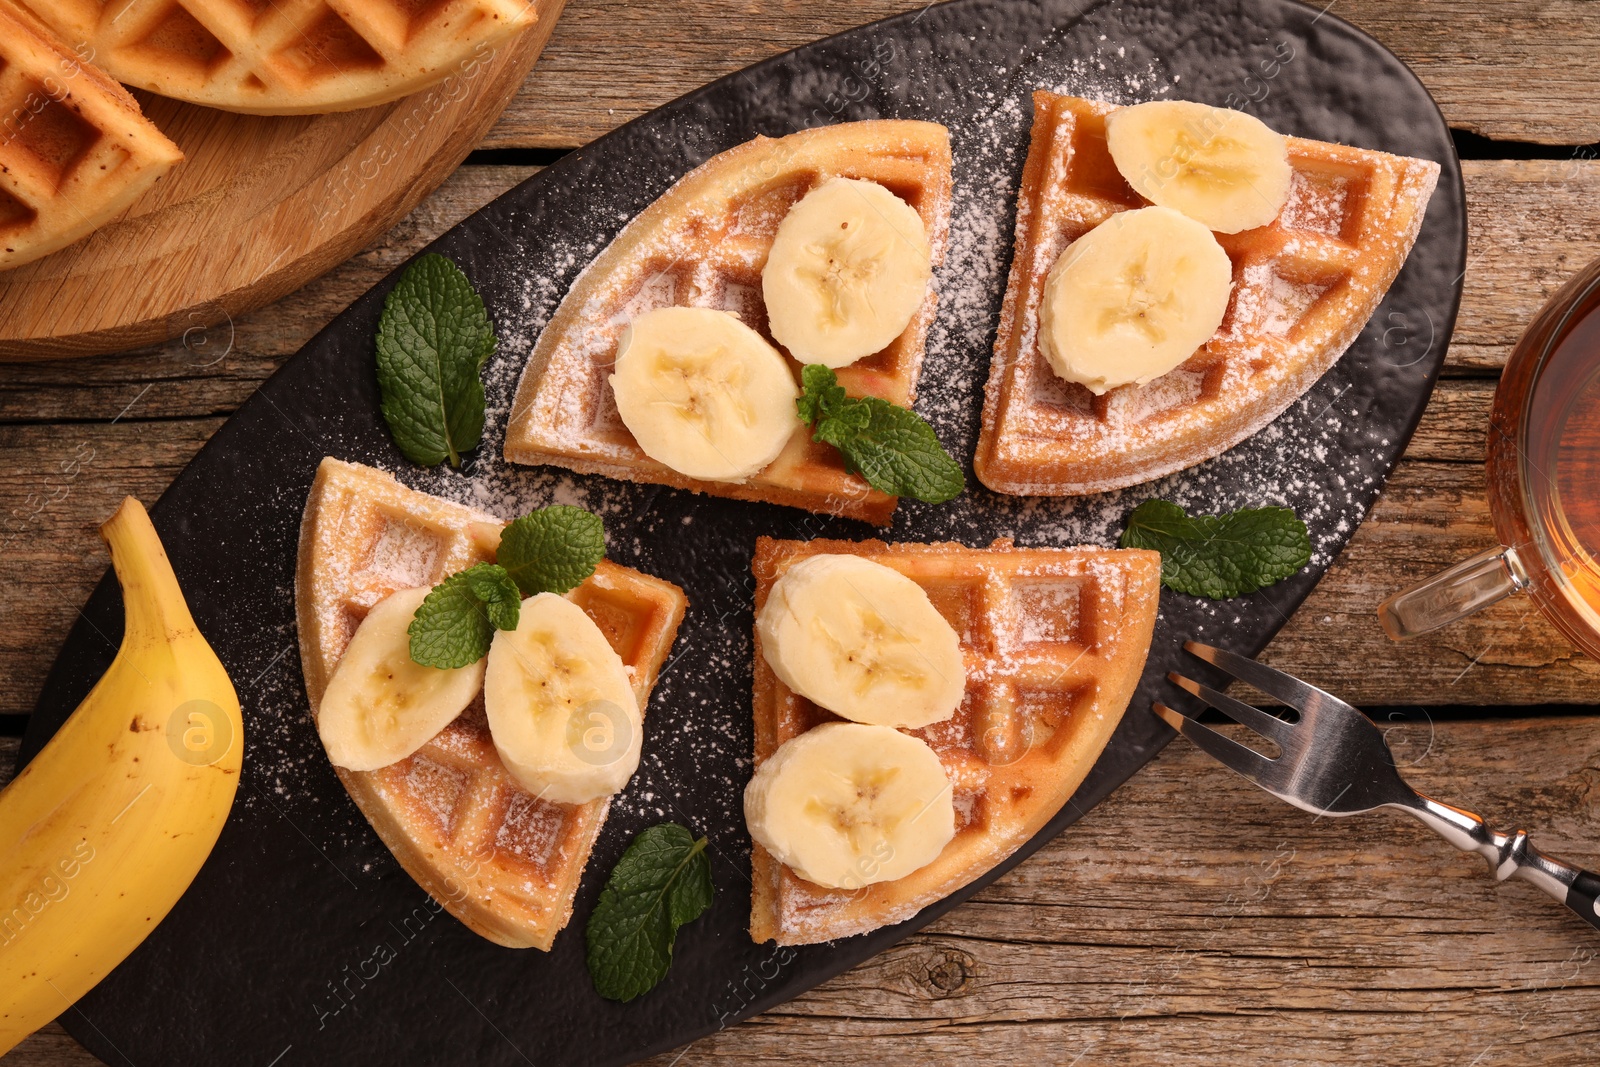
[[[1389,739],[1419,789],[1600,864],[1594,718]],[[0,768],[13,752],[0,741]],[[1179,739],[925,933],[650,1064],[1578,1065],[1597,955],[1565,909],[1421,824],[1314,819]],[[5,1062],[96,1061],[53,1025]]]

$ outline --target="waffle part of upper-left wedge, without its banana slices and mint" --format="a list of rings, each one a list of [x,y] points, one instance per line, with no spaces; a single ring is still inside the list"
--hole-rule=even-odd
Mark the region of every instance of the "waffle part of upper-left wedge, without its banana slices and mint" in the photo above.
[[[782,350],[766,328],[762,267],[784,214],[829,178],[875,181],[907,202],[922,216],[934,262],[942,259],[950,216],[944,126],[850,122],[722,152],[645,208],[573,285],[523,371],[506,458],[888,523],[896,498],[846,474],[838,453],[813,442],[805,427],[747,482],[680,475],[638,448],[606,382],[622,328],[653,307],[736,312]],[[882,352],[840,368],[838,384],[854,397],[910,405],[936,304],[930,290],[906,331]]]

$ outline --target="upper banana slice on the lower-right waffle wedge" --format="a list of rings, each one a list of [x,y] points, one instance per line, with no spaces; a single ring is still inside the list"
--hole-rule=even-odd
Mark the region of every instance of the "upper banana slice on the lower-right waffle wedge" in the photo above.
[[[962,641],[917,582],[859,555],[784,571],[755,622],[778,678],[858,723],[918,728],[966,691]]]

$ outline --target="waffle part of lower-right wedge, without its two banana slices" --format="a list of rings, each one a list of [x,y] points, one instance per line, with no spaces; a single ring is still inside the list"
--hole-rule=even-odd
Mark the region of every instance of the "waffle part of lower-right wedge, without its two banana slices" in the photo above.
[[[909,731],[939,755],[955,798],[955,838],[896,881],[824,889],[760,845],[750,856],[750,937],[813,944],[910,918],[1038,832],[1083,782],[1133,697],[1155,629],[1162,561],[1112,549],[989,549],[882,541],[755,542],[755,609],[797,560],[851,552],[922,585],[966,662],[955,715]],[[755,637],[755,765],[835,717],[795,696]]]

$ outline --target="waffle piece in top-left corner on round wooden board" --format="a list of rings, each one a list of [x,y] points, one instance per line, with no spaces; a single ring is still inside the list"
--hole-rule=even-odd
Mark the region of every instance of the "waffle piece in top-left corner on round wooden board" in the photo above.
[[[0,0],[0,270],[88,235],[182,158],[125,88]]]

